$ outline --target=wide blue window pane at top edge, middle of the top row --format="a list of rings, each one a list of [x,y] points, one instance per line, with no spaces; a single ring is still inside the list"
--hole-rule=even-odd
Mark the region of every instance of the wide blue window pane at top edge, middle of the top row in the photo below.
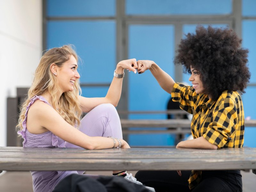
[[[232,12],[232,0],[126,0],[127,15],[218,15]]]

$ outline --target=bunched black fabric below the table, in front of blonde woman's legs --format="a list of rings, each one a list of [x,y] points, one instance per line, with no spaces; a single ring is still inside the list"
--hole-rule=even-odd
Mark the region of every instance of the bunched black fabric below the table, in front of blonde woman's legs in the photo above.
[[[123,177],[71,174],[62,179],[52,192],[150,192],[142,185],[132,183]]]

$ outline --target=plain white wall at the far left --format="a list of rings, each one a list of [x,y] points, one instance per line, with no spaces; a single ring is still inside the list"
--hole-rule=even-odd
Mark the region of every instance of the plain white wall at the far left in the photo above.
[[[29,87],[42,52],[42,0],[0,0],[0,146],[6,146],[7,97]]]

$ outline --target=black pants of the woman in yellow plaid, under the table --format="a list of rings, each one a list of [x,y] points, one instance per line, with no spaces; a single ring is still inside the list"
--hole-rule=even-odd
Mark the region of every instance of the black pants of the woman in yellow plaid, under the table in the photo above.
[[[155,188],[156,192],[240,192],[242,175],[240,170],[202,171],[200,183],[192,190],[188,187],[191,171],[138,171],[135,178],[143,184]]]

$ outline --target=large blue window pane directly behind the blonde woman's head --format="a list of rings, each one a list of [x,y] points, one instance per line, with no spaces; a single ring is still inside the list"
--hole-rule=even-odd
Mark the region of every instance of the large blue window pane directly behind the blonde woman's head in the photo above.
[[[63,44],[76,46],[82,60],[80,82],[110,83],[116,66],[116,24],[114,21],[49,21],[47,48]]]

